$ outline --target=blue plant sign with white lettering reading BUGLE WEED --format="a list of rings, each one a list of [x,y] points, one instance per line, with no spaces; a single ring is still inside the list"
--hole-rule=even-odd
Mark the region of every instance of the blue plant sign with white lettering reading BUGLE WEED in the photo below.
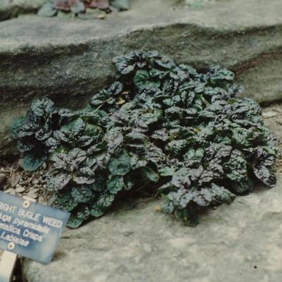
[[[51,262],[70,214],[0,192],[0,248]]]

